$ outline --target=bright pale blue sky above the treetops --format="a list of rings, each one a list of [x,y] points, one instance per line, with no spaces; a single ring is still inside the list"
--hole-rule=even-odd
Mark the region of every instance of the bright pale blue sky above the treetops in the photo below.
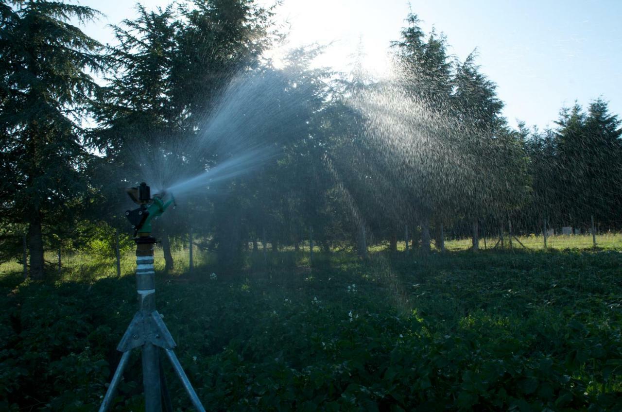
[[[166,0],[144,0],[147,7]],[[259,0],[272,4],[272,0]],[[111,42],[108,23],[134,16],[132,2],[83,0],[108,17],[86,32]],[[447,35],[450,53],[464,59],[475,47],[482,71],[498,85],[511,124],[522,119],[544,128],[562,105],[587,105],[602,96],[622,115],[622,1],[413,0],[412,11]],[[290,45],[332,43],[319,60],[338,70],[360,40],[368,67],[383,70],[391,40],[399,39],[406,0],[284,0],[277,21],[287,21]]]

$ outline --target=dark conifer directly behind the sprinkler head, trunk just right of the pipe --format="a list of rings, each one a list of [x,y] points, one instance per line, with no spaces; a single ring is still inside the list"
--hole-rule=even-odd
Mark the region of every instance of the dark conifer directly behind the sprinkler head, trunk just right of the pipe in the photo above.
[[[183,124],[184,108],[172,103],[179,16],[172,5],[156,11],[138,5],[137,12],[135,19],[113,26],[118,44],[108,48],[112,75],[96,106],[100,127],[90,135],[90,144],[106,154],[95,172],[100,192],[108,199],[106,214],[117,221],[125,200],[123,185],[153,179],[149,184],[156,190],[170,184],[183,164],[180,159],[188,156],[182,137],[191,137]],[[167,271],[174,266],[169,234],[187,233],[182,222],[166,224],[174,218],[174,212],[167,213],[156,229]]]

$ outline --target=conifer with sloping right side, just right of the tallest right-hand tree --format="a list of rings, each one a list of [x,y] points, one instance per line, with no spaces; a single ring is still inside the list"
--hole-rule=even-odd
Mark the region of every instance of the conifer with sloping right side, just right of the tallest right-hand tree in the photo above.
[[[496,85],[475,63],[475,53],[457,63],[452,78],[452,117],[460,133],[452,146],[465,157],[466,174],[462,204],[457,205],[470,220],[486,215],[505,220],[508,210],[526,196],[526,163],[521,131],[509,129],[501,116],[503,102]]]

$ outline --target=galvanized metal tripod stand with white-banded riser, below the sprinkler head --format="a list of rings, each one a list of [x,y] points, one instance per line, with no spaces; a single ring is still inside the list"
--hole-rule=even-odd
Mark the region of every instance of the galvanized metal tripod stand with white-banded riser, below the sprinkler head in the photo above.
[[[169,358],[175,374],[182,381],[183,387],[190,395],[195,409],[205,412],[197,393],[192,388],[188,377],[183,372],[173,348],[176,346],[162,317],[156,311],[156,280],[154,271],[154,243],[149,232],[139,233],[136,238],[136,289],[138,292],[138,311],[130,322],[128,329],[117,346],[123,352],[121,361],[114,372],[113,380],[108,386],[106,396],[100,406],[100,412],[108,410],[114,397],[124,368],[128,365],[131,350],[142,349],[142,383],[145,394],[145,411],[162,412],[162,401],[167,412],[172,412],[169,391],[160,364],[160,349]]]

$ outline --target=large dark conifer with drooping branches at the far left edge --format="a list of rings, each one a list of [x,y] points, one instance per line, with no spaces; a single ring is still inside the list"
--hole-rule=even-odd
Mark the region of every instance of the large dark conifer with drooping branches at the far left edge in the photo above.
[[[69,23],[90,7],[51,1],[0,5],[0,202],[2,220],[25,223],[30,276],[44,277],[44,232],[85,195],[81,119],[98,89],[100,44]]]

